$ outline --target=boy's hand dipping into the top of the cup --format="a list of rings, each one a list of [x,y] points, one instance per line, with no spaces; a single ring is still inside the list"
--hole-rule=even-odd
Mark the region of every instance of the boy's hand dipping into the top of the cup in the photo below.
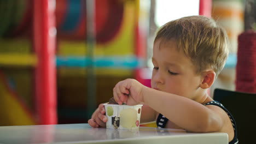
[[[114,99],[119,105],[123,103],[127,105],[137,105],[143,102],[142,89],[144,87],[145,86],[134,79],[120,81],[113,89]]]

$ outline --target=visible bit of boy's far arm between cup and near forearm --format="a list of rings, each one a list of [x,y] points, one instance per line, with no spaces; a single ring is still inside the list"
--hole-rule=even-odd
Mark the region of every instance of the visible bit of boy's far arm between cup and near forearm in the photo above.
[[[155,121],[156,111],[146,104],[143,104],[141,111],[141,123]]]

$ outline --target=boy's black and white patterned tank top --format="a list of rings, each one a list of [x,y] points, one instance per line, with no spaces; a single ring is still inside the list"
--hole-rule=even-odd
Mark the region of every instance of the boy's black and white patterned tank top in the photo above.
[[[209,103],[207,103],[205,105],[219,106],[220,108],[222,108],[228,114],[228,116],[230,118],[230,121],[232,123],[233,129],[234,129],[234,133],[235,133],[234,139],[232,141],[230,141],[229,144],[238,144],[237,131],[236,131],[236,122],[235,122],[234,117],[231,115],[231,113],[222,104],[220,104],[218,101],[210,101]],[[165,128],[165,125],[166,125],[167,122],[168,122],[168,118],[166,118],[161,113],[159,113],[158,119],[156,119],[156,125],[158,125],[158,128]]]

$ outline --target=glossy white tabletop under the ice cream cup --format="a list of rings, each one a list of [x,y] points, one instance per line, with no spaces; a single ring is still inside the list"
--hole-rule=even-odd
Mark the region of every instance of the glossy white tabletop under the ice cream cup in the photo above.
[[[91,128],[89,124],[0,127],[0,143],[228,143],[226,133],[187,133],[177,129]]]

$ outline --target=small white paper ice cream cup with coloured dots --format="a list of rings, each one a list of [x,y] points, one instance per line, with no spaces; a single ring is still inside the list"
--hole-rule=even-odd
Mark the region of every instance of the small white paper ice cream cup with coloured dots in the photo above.
[[[104,104],[108,121],[107,129],[138,129],[142,105]]]

